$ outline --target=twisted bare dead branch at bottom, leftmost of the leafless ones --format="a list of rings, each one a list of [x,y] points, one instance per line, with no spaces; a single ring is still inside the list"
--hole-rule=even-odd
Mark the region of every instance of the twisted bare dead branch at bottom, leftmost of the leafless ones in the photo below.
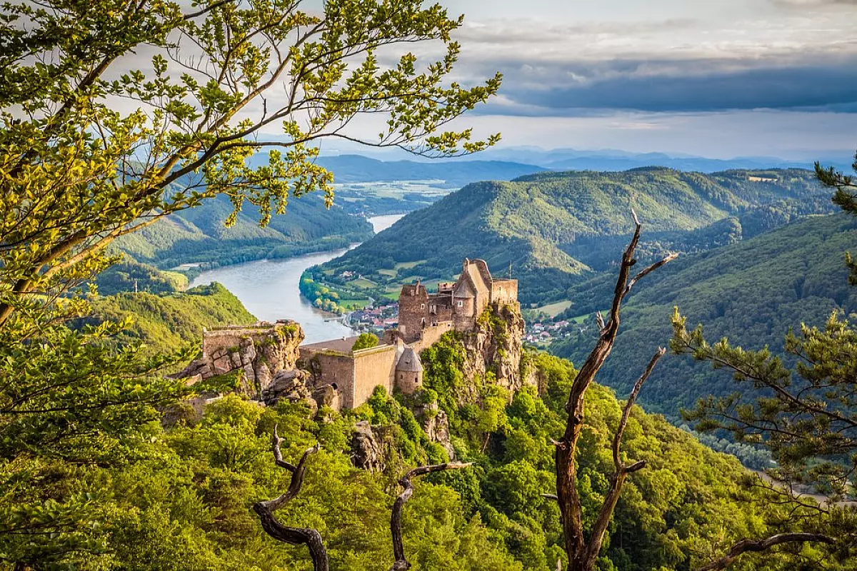
[[[319,446],[316,444],[314,447],[307,449],[303,453],[303,456],[301,456],[301,460],[297,462],[297,466],[295,466],[294,464],[283,460],[283,453],[279,449],[279,445],[282,442],[283,439],[277,435],[277,428],[274,427],[273,437],[271,438],[273,458],[277,463],[277,466],[285,468],[291,472],[289,489],[285,491],[285,494],[280,497],[275,497],[273,500],[255,503],[253,509],[256,514],[259,514],[262,529],[264,529],[268,535],[277,541],[282,541],[287,544],[306,545],[309,548],[309,556],[313,559],[313,570],[329,571],[330,561],[327,557],[327,550],[325,549],[324,542],[321,540],[321,533],[309,527],[284,526],[276,517],[274,517],[275,511],[285,506],[286,503],[291,502],[291,500],[297,497],[298,492],[301,491],[307,458],[309,458],[309,455],[313,455],[318,452]]]

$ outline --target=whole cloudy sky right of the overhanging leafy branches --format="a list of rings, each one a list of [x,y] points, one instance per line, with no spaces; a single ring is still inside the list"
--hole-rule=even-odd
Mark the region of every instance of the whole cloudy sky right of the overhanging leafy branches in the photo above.
[[[503,146],[843,160],[857,148],[857,0],[440,3],[465,17],[455,79],[504,74],[467,117]]]

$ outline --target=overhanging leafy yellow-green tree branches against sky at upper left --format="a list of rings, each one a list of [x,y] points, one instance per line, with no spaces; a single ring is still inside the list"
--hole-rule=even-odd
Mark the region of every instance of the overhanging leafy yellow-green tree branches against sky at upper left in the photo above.
[[[315,141],[361,141],[347,133],[357,116],[384,121],[380,138],[364,143],[429,156],[499,140],[441,131],[494,95],[500,74],[470,88],[448,79],[462,19],[440,6],[336,0],[308,13],[262,0],[183,9],[169,0],[3,6],[0,324],[34,292],[103,270],[113,261],[106,247],[170,213],[221,196],[225,226],[249,205],[264,227],[290,198],[315,190],[330,206],[333,175],[315,163]],[[432,40],[443,46],[439,61],[423,65],[405,52],[392,66],[378,63],[381,48],[395,57]],[[147,72],[130,67],[141,45]],[[180,45],[193,45],[194,56]],[[249,112],[273,86],[292,97]],[[280,136],[260,138],[273,125]],[[249,160],[263,149],[266,161]]]

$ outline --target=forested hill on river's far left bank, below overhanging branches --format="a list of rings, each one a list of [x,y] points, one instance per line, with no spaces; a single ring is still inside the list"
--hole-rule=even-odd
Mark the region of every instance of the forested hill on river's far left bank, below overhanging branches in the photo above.
[[[232,205],[220,196],[123,236],[117,246],[137,261],[163,269],[192,262],[226,265],[287,258],[346,247],[372,235],[365,218],[346,214],[337,205],[327,209],[322,198],[319,193],[291,199],[285,215],[273,216],[265,228],[259,226],[258,211],[245,205],[235,225],[226,228]]]

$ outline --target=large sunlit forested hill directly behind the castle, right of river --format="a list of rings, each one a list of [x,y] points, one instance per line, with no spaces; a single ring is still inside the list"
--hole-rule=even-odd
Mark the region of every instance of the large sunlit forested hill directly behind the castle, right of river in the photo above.
[[[731,216],[760,231],[801,214],[831,211],[828,193],[806,170],[543,172],[470,184],[322,270],[327,276],[357,271],[390,288],[416,277],[452,277],[461,259],[478,257],[504,275],[511,265],[524,303],[560,299],[614,261],[632,229],[632,208],[656,239],[644,244],[650,254],[738,240],[740,232],[728,225],[712,227],[714,235],[703,230]],[[687,235],[689,230],[698,235]]]

